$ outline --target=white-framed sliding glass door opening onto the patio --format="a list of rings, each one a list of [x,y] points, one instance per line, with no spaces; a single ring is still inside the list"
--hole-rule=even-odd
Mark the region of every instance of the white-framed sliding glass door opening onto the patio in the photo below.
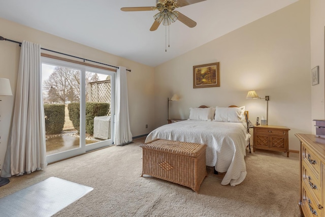
[[[113,144],[115,73],[42,57],[47,162]]]

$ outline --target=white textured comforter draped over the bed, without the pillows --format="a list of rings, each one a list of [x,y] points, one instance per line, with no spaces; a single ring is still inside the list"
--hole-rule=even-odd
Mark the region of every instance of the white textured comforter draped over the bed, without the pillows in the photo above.
[[[246,177],[246,146],[250,135],[245,122],[184,120],[153,130],[145,142],[168,139],[206,144],[206,165],[226,172],[221,184],[235,186]]]

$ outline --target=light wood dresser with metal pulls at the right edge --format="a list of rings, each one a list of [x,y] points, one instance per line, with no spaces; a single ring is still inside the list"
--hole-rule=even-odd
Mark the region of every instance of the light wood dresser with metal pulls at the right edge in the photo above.
[[[300,207],[305,216],[324,216],[325,138],[296,134],[300,149]]]

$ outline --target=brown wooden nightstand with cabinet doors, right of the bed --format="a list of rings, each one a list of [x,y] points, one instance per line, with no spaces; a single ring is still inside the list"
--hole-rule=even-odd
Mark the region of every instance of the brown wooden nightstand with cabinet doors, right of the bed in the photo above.
[[[281,126],[254,126],[253,151],[255,148],[283,151],[289,157],[289,130]]]

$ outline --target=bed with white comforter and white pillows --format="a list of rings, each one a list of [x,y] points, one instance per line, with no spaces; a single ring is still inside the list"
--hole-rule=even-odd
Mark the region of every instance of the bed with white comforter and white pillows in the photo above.
[[[206,144],[206,165],[225,172],[222,185],[236,186],[247,174],[244,157],[249,138],[245,107],[200,106],[190,108],[189,119],[153,130],[145,142],[168,139]]]

